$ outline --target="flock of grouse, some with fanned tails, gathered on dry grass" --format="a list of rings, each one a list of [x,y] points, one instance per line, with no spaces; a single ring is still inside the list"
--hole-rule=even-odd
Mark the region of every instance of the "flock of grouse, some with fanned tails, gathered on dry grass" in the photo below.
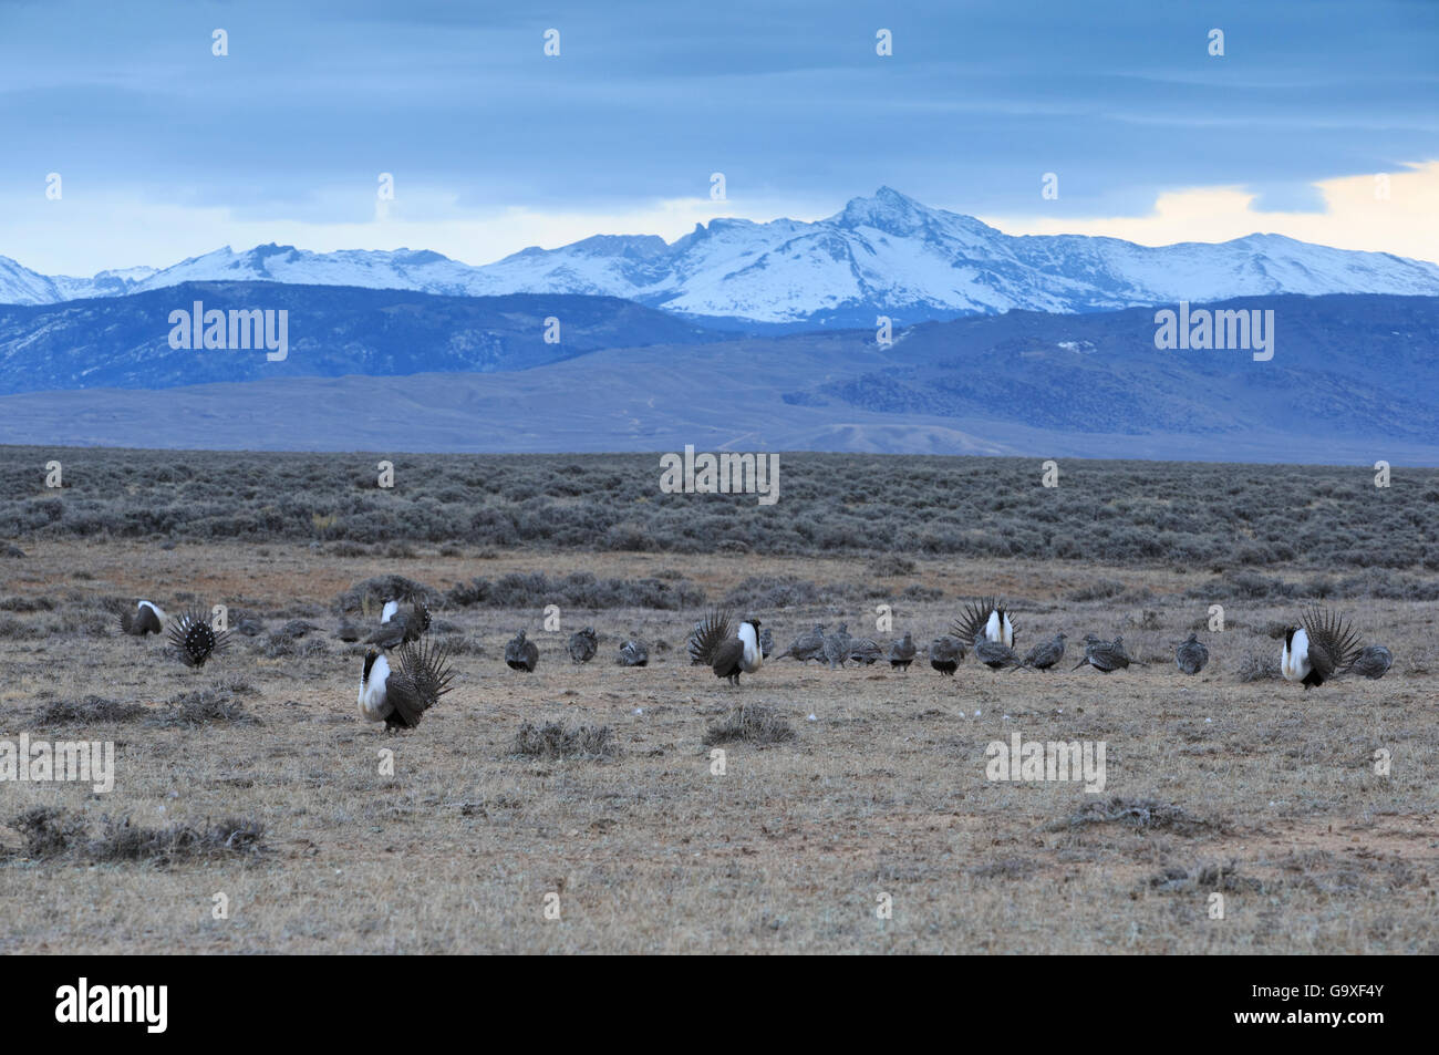
[[[442,695],[449,692],[455,676],[449,648],[432,640],[430,610],[423,600],[387,599],[380,613],[380,625],[364,638],[364,666],[360,675],[358,707],[370,721],[383,721],[386,730],[414,728],[422,715]],[[134,612],[119,617],[121,630],[144,638],[164,635],[178,659],[199,669],[226,651],[230,630],[217,630],[197,610],[167,616],[150,602],[140,600]],[[1019,622],[1009,605],[997,597],[968,602],[953,620],[948,632],[930,642],[925,656],[930,666],[944,676],[953,676],[968,653],[993,671],[1050,671],[1065,658],[1068,635],[1056,633],[1030,648],[1023,656],[1016,652]],[[360,640],[361,628],[344,620],[338,636]],[[738,685],[744,674],[755,674],[774,649],[768,628],[760,620],[735,619],[728,610],[711,610],[692,628],[686,652],[692,665],[709,666],[717,678]],[[599,635],[593,626],[570,635],[570,658],[576,665],[587,664],[599,653]],[[871,666],[888,661],[889,666],[908,671],[920,656],[914,635],[892,640],[889,648],[873,638],[853,638],[848,623],[827,632],[823,623],[794,639],[776,659],[810,661],[830,669],[846,664]],[[1348,620],[1331,610],[1309,607],[1299,622],[1288,626],[1279,656],[1279,672],[1286,681],[1297,681],[1305,689],[1322,685],[1341,675],[1381,678],[1393,665],[1393,653],[1383,645],[1363,646]],[[627,638],[617,651],[622,666],[646,666],[649,646],[639,635]],[[1105,640],[1085,635],[1084,658],[1071,671],[1092,666],[1101,674],[1122,671],[1140,661],[1130,656],[1124,638]],[[1209,662],[1209,648],[1190,633],[1174,651],[1174,665],[1181,674],[1196,675]],[[540,664],[538,646],[519,630],[505,646],[505,665],[514,671],[532,674]]]

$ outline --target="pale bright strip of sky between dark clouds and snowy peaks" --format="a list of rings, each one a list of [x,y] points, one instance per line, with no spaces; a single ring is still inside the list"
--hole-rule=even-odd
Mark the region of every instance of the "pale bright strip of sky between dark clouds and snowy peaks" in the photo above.
[[[1389,197],[1376,197],[1374,176],[1350,176],[1317,184],[1322,213],[1255,212],[1256,194],[1239,187],[1166,191],[1140,216],[1075,219],[1053,214],[990,214],[986,223],[1009,235],[1109,235],[1141,245],[1226,242],[1255,232],[1288,235],[1338,249],[1368,249],[1439,262],[1439,161],[1389,174]],[[902,187],[901,187],[902,190]],[[354,197],[353,189],[334,190]],[[872,191],[866,191],[872,193]],[[1061,196],[1063,187],[1061,186]],[[591,235],[659,235],[672,242],[718,216],[766,222],[781,216],[816,220],[843,202],[708,197],[636,202],[613,210],[463,209],[445,189],[401,184],[396,200],[361,204],[347,222],[237,217],[220,206],[137,202],[119,193],[69,193],[13,216],[0,253],[42,273],[91,275],[137,263],[170,266],[230,245],[237,250],[266,242],[315,252],[337,249],[433,249],[465,263],[489,263],[527,246],[554,249]],[[945,203],[968,212],[963,202]],[[1053,203],[1063,204],[1063,199]]]

